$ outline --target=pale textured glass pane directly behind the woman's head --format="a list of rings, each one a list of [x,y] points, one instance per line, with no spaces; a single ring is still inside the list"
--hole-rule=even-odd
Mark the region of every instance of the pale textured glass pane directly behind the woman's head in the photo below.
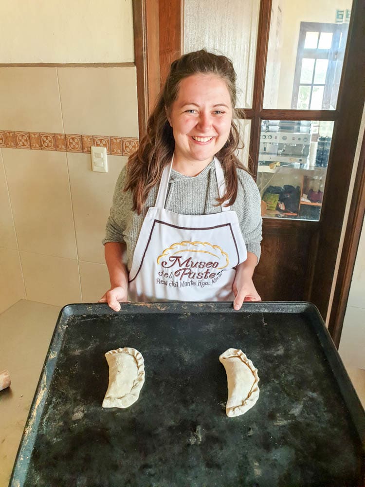
[[[237,107],[252,108],[260,0],[185,0],[183,52],[207,49],[232,59]]]

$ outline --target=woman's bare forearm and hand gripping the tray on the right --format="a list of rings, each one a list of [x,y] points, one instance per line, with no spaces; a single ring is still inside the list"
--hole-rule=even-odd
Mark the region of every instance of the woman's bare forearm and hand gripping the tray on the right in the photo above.
[[[235,295],[233,307],[237,311],[241,308],[243,301],[261,301],[252,281],[256,263],[256,255],[248,252],[247,260],[237,265],[236,277],[232,285],[232,291]]]

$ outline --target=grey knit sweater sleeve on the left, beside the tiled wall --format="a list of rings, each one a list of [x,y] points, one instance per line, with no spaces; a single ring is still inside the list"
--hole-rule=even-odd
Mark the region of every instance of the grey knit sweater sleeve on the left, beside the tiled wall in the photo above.
[[[123,233],[127,227],[128,214],[131,213],[132,198],[130,191],[125,192],[127,169],[124,167],[119,174],[114,189],[113,203],[105,230],[102,244],[107,242],[125,243]]]

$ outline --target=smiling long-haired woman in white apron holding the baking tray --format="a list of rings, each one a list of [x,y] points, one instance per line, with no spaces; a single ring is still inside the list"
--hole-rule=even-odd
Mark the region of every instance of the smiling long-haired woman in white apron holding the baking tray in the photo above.
[[[103,241],[111,287],[100,301],[115,311],[128,298],[235,309],[260,300],[260,194],[237,158],[235,105],[227,57],[201,50],[171,64],[114,192]]]

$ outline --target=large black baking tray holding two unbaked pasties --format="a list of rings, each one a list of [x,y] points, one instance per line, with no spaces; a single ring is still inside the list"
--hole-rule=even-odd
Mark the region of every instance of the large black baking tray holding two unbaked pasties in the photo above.
[[[103,409],[104,354],[134,347],[146,382]],[[219,355],[253,361],[260,396],[225,414]],[[64,307],[10,486],[362,486],[364,409],[314,305],[125,303]]]

